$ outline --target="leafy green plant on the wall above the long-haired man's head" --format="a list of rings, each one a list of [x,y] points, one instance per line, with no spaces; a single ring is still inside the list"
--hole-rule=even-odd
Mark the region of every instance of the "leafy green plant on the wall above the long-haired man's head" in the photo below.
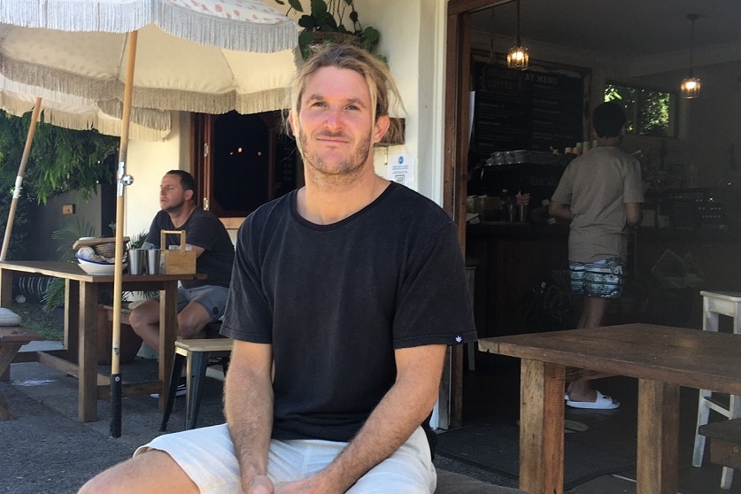
[[[301,0],[275,0],[277,4],[289,4],[289,10],[304,12]],[[286,12],[286,13],[288,13]],[[345,24],[347,23],[347,24]],[[304,29],[298,34],[298,47],[304,59],[311,54],[313,44],[322,42],[351,43],[373,53],[381,39],[375,27],[363,27],[353,0],[311,0],[311,10],[298,19]],[[384,62],[385,58],[378,56]]]

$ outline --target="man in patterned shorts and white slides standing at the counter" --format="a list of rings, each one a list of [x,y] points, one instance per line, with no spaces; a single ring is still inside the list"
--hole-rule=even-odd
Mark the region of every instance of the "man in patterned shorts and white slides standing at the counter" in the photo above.
[[[618,148],[625,134],[621,105],[598,105],[592,125],[598,147],[569,163],[549,207],[553,217],[571,221],[571,290],[583,297],[578,328],[601,326],[610,299],[621,297],[628,231],[640,224],[644,202],[640,163]],[[620,406],[583,379],[568,383],[566,403],[592,409]]]

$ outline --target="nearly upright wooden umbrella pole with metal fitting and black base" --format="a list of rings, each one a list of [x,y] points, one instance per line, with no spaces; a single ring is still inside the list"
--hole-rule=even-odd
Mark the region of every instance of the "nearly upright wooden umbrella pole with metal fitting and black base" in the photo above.
[[[113,272],[113,335],[111,354],[111,425],[112,437],[121,436],[121,374],[120,374],[120,346],[121,346],[121,293],[123,277],[123,228],[124,228],[124,186],[132,182],[126,173],[128,154],[128,127],[131,120],[131,95],[134,87],[134,65],[136,62],[136,40],[138,32],[128,34],[128,58],[126,68],[126,84],[124,86],[123,115],[121,116],[121,141],[119,149],[119,173],[116,194],[116,253],[115,270]]]

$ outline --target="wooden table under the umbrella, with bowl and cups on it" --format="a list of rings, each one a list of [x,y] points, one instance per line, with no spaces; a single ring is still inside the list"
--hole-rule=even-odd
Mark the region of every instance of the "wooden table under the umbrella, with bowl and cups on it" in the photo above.
[[[87,274],[80,266],[65,261],[0,262],[0,305],[12,306],[12,279],[16,275],[53,276],[66,283],[64,350],[39,351],[35,359],[79,379],[78,418],[97,420],[97,400],[108,397],[108,376],[97,374],[98,289],[113,285],[112,274]],[[174,359],[177,336],[178,280],[204,279],[204,274],[124,274],[122,289],[159,290],[158,381],[124,383],[123,394],[159,393],[159,409],[165,410],[166,387]],[[125,377],[125,376],[124,376]]]

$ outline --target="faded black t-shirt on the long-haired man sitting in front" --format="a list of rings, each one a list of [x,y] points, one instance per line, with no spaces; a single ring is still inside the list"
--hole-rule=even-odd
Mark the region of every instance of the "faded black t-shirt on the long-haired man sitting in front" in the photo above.
[[[221,333],[273,344],[275,438],[349,441],[393,385],[395,349],[475,340],[458,230],[396,183],[331,225],[296,195],[240,228]]]

